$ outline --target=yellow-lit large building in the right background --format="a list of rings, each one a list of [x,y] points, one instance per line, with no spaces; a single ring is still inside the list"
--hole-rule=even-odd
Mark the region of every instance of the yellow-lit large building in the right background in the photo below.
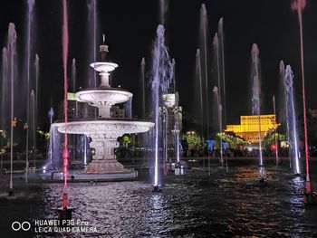
[[[252,115],[240,116],[240,125],[226,125],[226,132],[234,132],[236,136],[245,138],[251,143],[259,142],[259,121],[261,129],[261,140],[264,139],[266,133],[277,128],[280,124],[276,123],[274,114],[269,115]]]

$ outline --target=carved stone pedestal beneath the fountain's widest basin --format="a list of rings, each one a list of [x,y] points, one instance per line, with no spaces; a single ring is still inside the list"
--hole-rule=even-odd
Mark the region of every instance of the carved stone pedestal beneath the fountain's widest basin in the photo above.
[[[93,134],[91,137],[91,148],[95,149],[92,161],[86,167],[84,174],[110,174],[110,173],[127,173],[116,159],[114,149],[119,147],[117,138],[112,138],[107,134]]]

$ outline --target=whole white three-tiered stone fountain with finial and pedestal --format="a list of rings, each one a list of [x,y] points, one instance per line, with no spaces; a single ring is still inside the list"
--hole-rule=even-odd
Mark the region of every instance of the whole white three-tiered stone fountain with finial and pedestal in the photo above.
[[[91,138],[91,148],[95,149],[92,161],[81,174],[120,174],[129,173],[116,159],[114,149],[119,147],[117,139],[123,134],[143,133],[154,127],[154,123],[136,119],[111,118],[112,105],[123,103],[132,98],[132,93],[120,88],[111,88],[109,83],[110,71],[114,71],[118,64],[105,62],[108,46],[104,43],[100,46],[101,62],[92,62],[91,67],[99,71],[101,84],[96,89],[84,89],[78,91],[76,100],[89,103],[98,108],[96,119],[73,119],[67,123],[67,133],[84,134]],[[60,133],[65,131],[63,122],[53,123]]]

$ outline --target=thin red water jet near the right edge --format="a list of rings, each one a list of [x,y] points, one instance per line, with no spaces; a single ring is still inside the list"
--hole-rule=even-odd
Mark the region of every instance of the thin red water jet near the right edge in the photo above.
[[[302,69],[302,94],[303,94],[303,131],[305,139],[305,158],[306,158],[306,194],[312,193],[311,178],[309,172],[309,151],[308,151],[308,135],[307,135],[307,114],[306,114],[306,95],[305,95],[305,74],[303,67],[303,19],[302,11],[306,6],[306,0],[293,0],[292,10],[297,11],[298,22],[300,25],[301,36],[301,69]]]

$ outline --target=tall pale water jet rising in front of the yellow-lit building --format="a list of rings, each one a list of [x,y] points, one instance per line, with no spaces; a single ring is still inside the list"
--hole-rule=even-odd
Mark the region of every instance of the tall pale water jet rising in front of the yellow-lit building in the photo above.
[[[260,58],[259,49],[257,44],[252,46],[252,65],[251,65],[251,80],[253,81],[253,97],[252,97],[252,112],[258,117],[258,130],[259,130],[259,179],[264,182],[264,163],[262,154],[262,135],[261,135],[261,103],[260,103]]]

